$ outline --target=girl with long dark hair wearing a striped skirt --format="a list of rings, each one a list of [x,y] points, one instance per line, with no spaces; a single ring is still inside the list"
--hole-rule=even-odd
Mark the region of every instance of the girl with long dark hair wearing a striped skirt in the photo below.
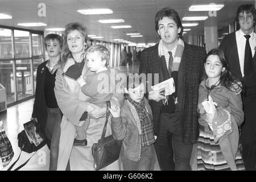
[[[238,148],[238,126],[243,122],[241,95],[224,52],[212,49],[204,61],[199,87],[200,133],[197,145],[198,170],[244,170]]]

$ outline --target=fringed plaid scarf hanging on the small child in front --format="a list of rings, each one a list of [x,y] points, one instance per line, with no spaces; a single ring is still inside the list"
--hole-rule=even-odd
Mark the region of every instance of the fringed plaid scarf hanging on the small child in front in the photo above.
[[[155,142],[153,127],[152,127],[152,117],[148,113],[144,100],[141,102],[133,101],[129,96],[127,97],[127,103],[130,106],[131,112],[134,115],[134,119],[136,121],[139,134],[141,127],[141,145],[149,146]],[[135,110],[134,110],[135,108]],[[134,114],[137,113],[137,114]]]

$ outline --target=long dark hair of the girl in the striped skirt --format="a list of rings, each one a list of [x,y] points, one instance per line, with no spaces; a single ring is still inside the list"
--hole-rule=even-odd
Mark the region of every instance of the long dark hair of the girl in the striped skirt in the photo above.
[[[242,82],[240,79],[238,78],[234,78],[230,72],[229,69],[229,65],[228,65],[228,61],[226,59],[226,56],[224,54],[224,52],[221,49],[212,49],[208,52],[206,59],[204,60],[204,64],[207,61],[207,58],[210,55],[217,55],[220,58],[221,64],[223,66],[223,68],[225,68],[225,71],[221,72],[221,76],[220,76],[220,84],[222,86],[225,86],[227,89],[229,89],[232,92],[236,92],[237,90],[239,90],[241,88],[241,85],[237,84],[237,81]],[[203,76],[203,80],[207,80],[208,76],[204,70],[204,76]],[[239,87],[235,88],[233,86],[233,84],[237,84]]]

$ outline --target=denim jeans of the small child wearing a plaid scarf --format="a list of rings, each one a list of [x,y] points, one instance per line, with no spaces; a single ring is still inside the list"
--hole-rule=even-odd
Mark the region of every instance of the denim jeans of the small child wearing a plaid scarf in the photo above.
[[[121,154],[121,159],[123,163],[124,171],[150,171],[152,166],[155,165],[154,160],[154,146],[144,146],[141,147],[141,159],[138,162],[126,159],[125,156]]]

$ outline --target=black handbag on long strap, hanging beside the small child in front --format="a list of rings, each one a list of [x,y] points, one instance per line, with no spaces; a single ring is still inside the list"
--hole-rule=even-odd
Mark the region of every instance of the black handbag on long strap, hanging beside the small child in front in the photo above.
[[[94,143],[92,146],[93,167],[95,170],[104,168],[115,162],[115,160],[118,160],[121,151],[122,141],[115,140],[113,135],[105,137],[106,126],[108,124],[110,114],[109,107],[110,102],[108,101],[106,109],[106,121],[101,139],[98,140],[98,143]]]

